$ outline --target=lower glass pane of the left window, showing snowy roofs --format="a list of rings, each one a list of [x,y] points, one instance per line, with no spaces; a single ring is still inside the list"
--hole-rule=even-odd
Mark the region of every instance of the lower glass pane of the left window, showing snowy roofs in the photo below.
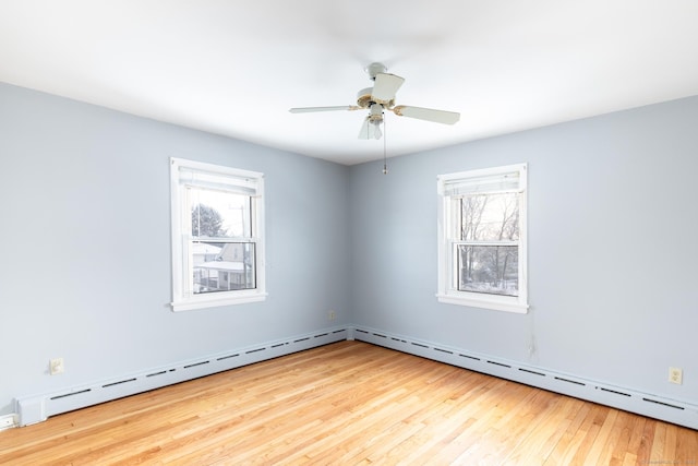
[[[192,242],[194,294],[256,288],[250,242]]]

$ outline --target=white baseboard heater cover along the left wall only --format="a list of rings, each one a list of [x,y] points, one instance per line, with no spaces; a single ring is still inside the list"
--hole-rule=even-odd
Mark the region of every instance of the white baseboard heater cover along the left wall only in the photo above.
[[[19,426],[45,421],[50,416],[161,389],[188,380],[349,339],[349,330],[333,327],[290,338],[262,343],[192,360],[104,380],[56,393],[21,396],[14,401]]]

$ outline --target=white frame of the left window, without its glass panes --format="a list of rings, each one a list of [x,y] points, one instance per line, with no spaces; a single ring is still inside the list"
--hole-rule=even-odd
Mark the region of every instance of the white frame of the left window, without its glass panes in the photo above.
[[[188,181],[180,174],[194,172],[204,177],[215,177],[224,190],[244,190],[253,195],[252,235],[255,244],[255,288],[230,291],[194,294],[192,291],[192,260],[189,243],[192,238],[191,207],[185,201]],[[170,196],[172,234],[172,311],[242,304],[266,299],[264,273],[264,175],[202,162],[170,158]]]

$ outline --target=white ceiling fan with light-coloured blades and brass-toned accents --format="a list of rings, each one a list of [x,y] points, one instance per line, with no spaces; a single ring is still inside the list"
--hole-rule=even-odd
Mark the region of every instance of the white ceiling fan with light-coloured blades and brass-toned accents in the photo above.
[[[369,116],[363,120],[359,139],[381,139],[381,123],[383,122],[384,110],[390,110],[399,117],[417,118],[418,120],[433,121],[436,123],[454,124],[460,119],[460,113],[455,111],[434,110],[432,108],[411,107],[407,105],[395,105],[395,94],[405,82],[404,77],[386,73],[387,69],[383,63],[371,63],[365,69],[371,80],[375,83],[373,87],[359,91],[357,105],[335,106],[335,107],[300,107],[291,108],[291,113],[309,113],[315,111],[336,110],[369,110]]]

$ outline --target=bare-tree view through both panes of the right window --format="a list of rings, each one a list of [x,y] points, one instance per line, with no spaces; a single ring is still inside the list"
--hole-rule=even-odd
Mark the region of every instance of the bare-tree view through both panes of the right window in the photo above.
[[[460,199],[458,289],[518,296],[518,193]]]

